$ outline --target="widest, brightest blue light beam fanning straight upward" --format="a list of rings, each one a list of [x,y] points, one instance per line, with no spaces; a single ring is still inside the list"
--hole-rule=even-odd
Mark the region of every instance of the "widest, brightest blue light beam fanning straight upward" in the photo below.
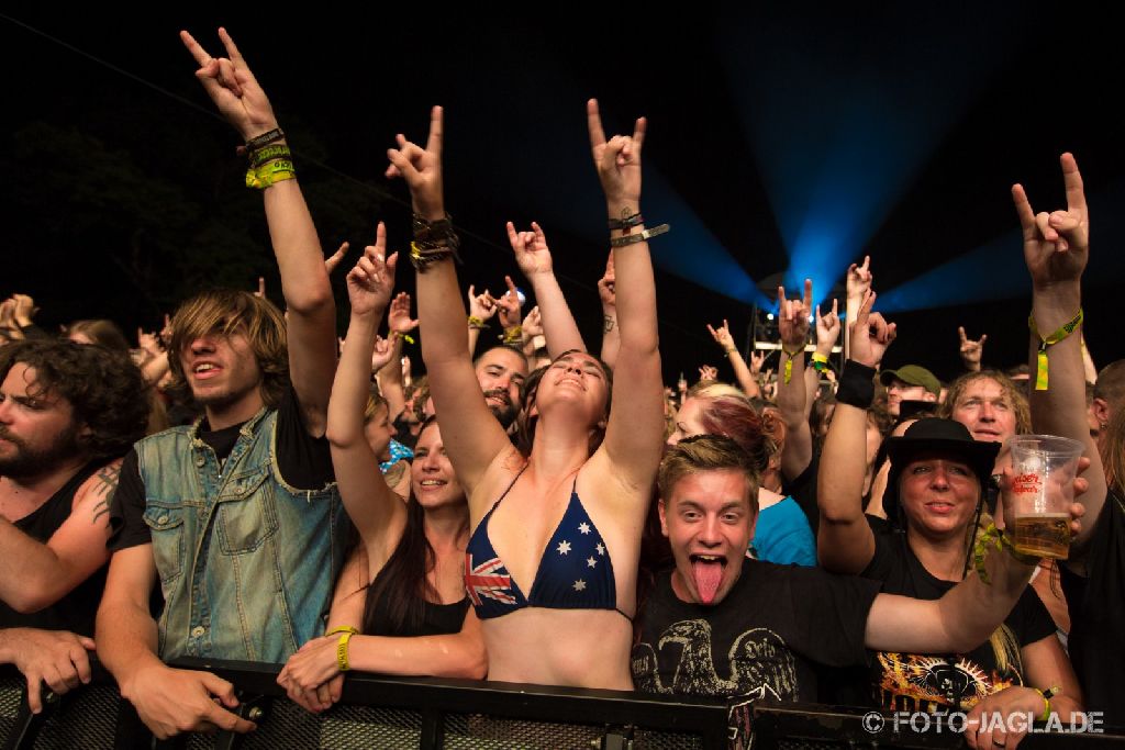
[[[936,10],[920,19],[914,7],[874,19],[784,12],[744,12],[720,34],[789,250],[785,286],[811,278],[819,302],[988,83],[1011,35],[999,15],[965,25]]]

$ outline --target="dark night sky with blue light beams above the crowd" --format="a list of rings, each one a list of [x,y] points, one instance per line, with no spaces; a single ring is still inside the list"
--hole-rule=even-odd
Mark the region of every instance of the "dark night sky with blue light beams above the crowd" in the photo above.
[[[397,132],[424,138],[441,103],[462,287],[502,289],[516,273],[504,222],[536,219],[594,347],[608,249],[584,102],[598,98],[611,132],[647,116],[642,206],[649,224],[672,224],[651,243],[669,382],[694,380],[702,362],[730,378],[704,325],[729,318],[744,343],[750,306],[774,296],[764,280],[794,290],[809,274],[826,299],[864,254],[876,308],[899,324],[884,364],[955,376],[957,325],[988,334],[986,364],[1023,361],[1029,282],[1009,188],[1023,182],[1036,210],[1062,207],[1062,151],[1090,202],[1087,341],[1099,365],[1122,356],[1110,323],[1125,279],[1117,25],[1029,3],[900,4],[2,16],[0,295],[34,295],[45,327],[106,316],[126,331],[158,327],[206,286],[251,289],[259,273],[280,301],[237,136],[212,116],[177,38],[188,28],[218,53],[222,24],[291,136],[326,251],[369,242],[378,219],[404,245],[408,197],[381,177],[385,151]],[[399,286],[412,288],[410,273]]]

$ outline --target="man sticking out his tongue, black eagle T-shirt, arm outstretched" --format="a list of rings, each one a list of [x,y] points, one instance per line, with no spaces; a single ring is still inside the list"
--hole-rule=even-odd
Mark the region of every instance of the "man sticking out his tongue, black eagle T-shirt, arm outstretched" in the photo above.
[[[657,576],[639,615],[633,684],[649,693],[745,698],[730,714],[736,746],[746,739],[749,702],[817,702],[812,662],[867,666],[867,649],[971,651],[1004,622],[1035,568],[1008,544],[989,546],[978,569],[940,599],[921,600],[881,594],[875,580],[749,559],[758,477],[721,435],[669,449],[657,487],[676,567]],[[1082,489],[1077,480],[1076,491]],[[1081,507],[1071,515],[1077,532]]]

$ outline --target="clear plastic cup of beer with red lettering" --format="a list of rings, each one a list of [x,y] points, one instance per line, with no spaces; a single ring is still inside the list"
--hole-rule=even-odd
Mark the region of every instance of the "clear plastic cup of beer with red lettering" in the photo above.
[[[1070,505],[1074,476],[1086,448],[1055,435],[1016,435],[1011,450],[1011,497],[1016,551],[1065,560],[1070,552]]]

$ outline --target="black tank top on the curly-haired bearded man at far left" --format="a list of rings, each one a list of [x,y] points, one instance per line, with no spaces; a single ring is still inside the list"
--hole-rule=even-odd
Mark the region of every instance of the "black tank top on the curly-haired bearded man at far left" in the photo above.
[[[46,542],[70,517],[78,488],[97,471],[105,461],[93,461],[71,477],[46,503],[24,516],[12,525],[32,539]],[[105,523],[105,519],[99,519]],[[50,607],[34,614],[20,614],[0,602],[0,627],[39,627],[42,630],[69,630],[81,635],[93,635],[93,618],[106,587],[106,569],[102,566],[78,585],[70,594]]]

